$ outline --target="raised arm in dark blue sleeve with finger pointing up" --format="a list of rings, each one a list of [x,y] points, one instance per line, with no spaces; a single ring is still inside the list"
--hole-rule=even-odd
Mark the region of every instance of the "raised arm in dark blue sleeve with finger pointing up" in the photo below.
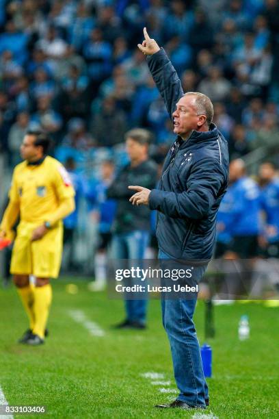
[[[183,96],[181,81],[176,70],[165,50],[149,37],[146,28],[144,28],[144,41],[142,45],[138,44],[137,47],[145,55],[148,55],[147,62],[150,73],[172,120],[172,112],[176,109],[176,103]]]

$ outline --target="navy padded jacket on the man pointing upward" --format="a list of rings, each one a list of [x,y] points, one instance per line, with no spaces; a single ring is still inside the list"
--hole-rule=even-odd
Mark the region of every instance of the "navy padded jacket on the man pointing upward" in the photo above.
[[[181,81],[163,49],[148,56],[148,67],[173,120],[183,96]],[[193,130],[186,141],[178,136],[165,158],[159,187],[149,197],[150,209],[158,211],[159,249],[174,259],[209,262],[227,186],[228,144],[217,127]]]

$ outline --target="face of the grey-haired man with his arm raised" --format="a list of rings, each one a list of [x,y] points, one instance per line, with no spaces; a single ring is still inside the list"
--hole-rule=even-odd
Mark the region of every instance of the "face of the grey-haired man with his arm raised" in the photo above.
[[[194,94],[181,97],[176,103],[174,118],[174,133],[178,136],[187,136],[192,129],[198,129],[204,124],[205,116],[197,115]]]

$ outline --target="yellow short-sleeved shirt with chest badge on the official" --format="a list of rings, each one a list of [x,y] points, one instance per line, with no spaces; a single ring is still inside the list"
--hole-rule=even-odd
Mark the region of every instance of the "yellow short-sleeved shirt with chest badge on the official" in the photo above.
[[[60,162],[45,157],[34,166],[22,162],[14,168],[10,202],[19,205],[21,221],[44,223],[51,220],[62,201],[75,196],[70,177]]]

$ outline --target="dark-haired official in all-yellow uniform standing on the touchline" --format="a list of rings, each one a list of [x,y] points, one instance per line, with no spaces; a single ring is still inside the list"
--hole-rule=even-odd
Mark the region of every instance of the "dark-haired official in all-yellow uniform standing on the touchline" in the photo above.
[[[75,190],[64,166],[47,155],[51,140],[28,131],[21,145],[24,162],[14,168],[10,201],[0,225],[9,238],[20,223],[12,251],[10,272],[29,317],[29,329],[19,342],[44,343],[52,299],[50,278],[57,278],[62,259],[62,219],[75,210]],[[29,283],[34,275],[35,286]]]

